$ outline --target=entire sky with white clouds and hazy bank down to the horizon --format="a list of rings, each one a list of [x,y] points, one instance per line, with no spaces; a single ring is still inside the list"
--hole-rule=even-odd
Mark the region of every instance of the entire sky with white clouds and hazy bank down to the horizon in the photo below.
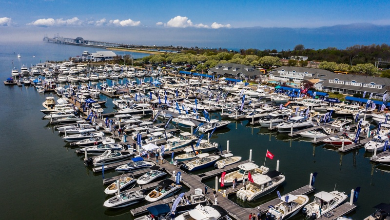
[[[0,5],[0,41],[58,34],[146,45],[286,50],[296,44],[316,49],[382,44],[390,33],[390,1],[385,0],[0,0]],[[343,37],[334,37],[340,32]]]

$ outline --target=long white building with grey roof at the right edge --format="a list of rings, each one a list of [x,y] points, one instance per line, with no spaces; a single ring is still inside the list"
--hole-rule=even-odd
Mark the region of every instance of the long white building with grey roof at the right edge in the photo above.
[[[369,95],[372,93],[372,99],[380,100],[390,89],[389,78],[336,74],[328,70],[297,66],[281,66],[273,69],[270,80],[294,81],[295,83],[310,80],[316,82],[314,88],[318,91],[348,95],[366,92]]]

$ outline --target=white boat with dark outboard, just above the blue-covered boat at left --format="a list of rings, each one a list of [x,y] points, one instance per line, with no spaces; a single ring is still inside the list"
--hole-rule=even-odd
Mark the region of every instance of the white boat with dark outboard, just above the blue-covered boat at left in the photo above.
[[[123,160],[128,160],[134,155],[133,152],[113,152],[112,150],[106,150],[103,154],[97,156],[96,158],[88,158],[85,160],[86,165],[101,166],[111,163],[120,162]],[[91,164],[92,163],[92,164]]]

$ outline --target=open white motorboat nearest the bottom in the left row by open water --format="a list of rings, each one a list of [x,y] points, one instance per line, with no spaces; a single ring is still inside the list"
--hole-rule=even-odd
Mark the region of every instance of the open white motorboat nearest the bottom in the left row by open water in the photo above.
[[[144,200],[146,195],[142,191],[125,192],[106,200],[103,205],[108,208],[122,208]]]

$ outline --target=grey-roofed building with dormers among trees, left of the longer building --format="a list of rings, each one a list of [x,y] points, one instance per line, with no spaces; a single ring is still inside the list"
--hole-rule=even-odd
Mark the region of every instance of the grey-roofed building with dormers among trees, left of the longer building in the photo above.
[[[209,75],[217,75],[217,77],[222,78],[233,78],[233,79],[242,79],[246,78],[255,79],[256,76],[262,74],[254,66],[248,66],[237,63],[222,63],[218,64],[213,68],[208,70]]]

